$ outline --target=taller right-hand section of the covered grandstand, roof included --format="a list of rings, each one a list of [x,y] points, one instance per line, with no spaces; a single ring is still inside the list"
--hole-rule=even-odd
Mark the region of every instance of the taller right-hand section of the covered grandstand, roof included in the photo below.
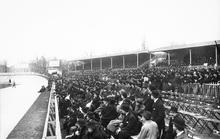
[[[218,65],[220,60],[220,40],[194,44],[161,47],[151,52],[166,52],[166,65]]]

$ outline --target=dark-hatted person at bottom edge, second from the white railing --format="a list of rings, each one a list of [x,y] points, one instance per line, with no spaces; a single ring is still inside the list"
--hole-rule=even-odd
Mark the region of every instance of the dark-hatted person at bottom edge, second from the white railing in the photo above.
[[[98,129],[98,123],[95,121],[90,121],[87,124],[88,134],[86,135],[88,139],[105,139]]]

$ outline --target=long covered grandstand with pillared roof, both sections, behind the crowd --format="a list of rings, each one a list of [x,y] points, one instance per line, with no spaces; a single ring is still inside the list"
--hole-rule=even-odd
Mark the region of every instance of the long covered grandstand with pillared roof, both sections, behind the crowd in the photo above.
[[[129,53],[112,54],[97,57],[74,59],[69,61],[72,64],[69,70],[103,70],[103,69],[135,69],[143,65],[149,66],[149,61],[154,60],[155,52],[166,52],[167,58],[157,66],[193,66],[218,65],[220,61],[220,40],[194,44],[175,45],[161,47],[151,51],[135,51]],[[70,65],[71,65],[70,64]],[[159,65],[158,65],[159,64]]]

